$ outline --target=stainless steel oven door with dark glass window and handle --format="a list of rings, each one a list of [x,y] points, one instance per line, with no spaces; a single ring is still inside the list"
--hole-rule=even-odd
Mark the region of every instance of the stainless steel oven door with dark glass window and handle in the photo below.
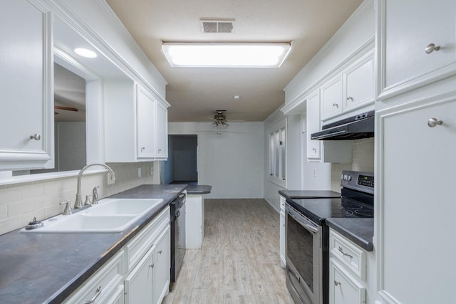
[[[286,286],[295,303],[323,303],[322,228],[286,204]]]

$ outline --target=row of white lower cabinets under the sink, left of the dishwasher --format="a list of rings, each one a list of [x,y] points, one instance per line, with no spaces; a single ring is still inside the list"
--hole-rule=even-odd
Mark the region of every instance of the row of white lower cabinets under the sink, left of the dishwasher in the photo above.
[[[64,303],[161,303],[169,290],[170,260],[167,207]]]

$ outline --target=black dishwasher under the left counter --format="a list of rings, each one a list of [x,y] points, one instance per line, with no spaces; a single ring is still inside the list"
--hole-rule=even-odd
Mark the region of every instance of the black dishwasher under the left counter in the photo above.
[[[171,202],[171,282],[175,282],[185,256],[185,198],[181,193]]]

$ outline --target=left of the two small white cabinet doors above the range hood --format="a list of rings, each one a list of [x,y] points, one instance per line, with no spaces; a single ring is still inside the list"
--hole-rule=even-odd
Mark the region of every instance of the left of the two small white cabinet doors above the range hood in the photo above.
[[[342,112],[342,75],[337,75],[321,87],[321,119]]]

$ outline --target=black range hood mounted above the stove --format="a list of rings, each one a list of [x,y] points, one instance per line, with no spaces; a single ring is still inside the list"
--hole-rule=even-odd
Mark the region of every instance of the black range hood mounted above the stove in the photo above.
[[[323,125],[320,132],[311,134],[311,140],[359,140],[374,136],[375,112],[348,117]]]

